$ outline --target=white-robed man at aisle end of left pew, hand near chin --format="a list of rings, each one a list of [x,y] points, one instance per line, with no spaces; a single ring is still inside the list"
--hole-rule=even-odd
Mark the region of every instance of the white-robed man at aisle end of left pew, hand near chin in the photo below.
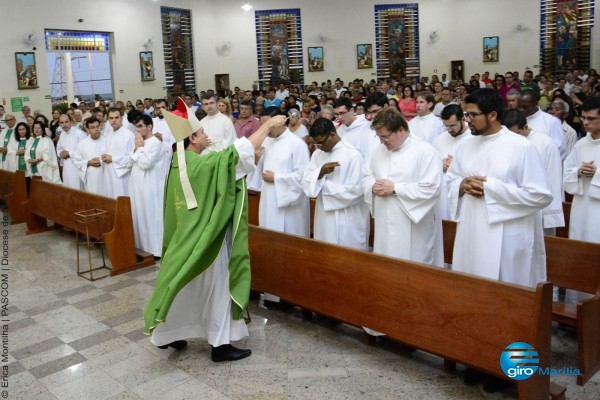
[[[161,257],[163,241],[163,196],[165,168],[161,141],[152,134],[152,117],[142,114],[133,122],[136,133],[131,168],[129,197],[133,211],[135,247]]]

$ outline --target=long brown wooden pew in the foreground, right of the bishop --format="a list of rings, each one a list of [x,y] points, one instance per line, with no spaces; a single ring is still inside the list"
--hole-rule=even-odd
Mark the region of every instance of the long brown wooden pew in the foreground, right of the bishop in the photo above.
[[[249,243],[256,290],[501,378],[513,342],[550,365],[548,283],[532,290],[256,226]],[[519,399],[550,395],[548,375],[516,382]]]

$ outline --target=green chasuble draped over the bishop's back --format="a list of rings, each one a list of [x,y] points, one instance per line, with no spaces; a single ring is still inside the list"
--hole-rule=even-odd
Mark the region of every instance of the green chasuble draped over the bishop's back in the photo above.
[[[187,174],[198,207],[188,210],[177,157],[165,188],[163,257],[154,292],[144,310],[144,332],[165,322],[177,293],[217,259],[232,225],[229,293],[233,319],[242,318],[250,295],[248,198],[244,179],[236,181],[235,147],[200,157],[185,152]],[[199,306],[200,307],[200,306]]]

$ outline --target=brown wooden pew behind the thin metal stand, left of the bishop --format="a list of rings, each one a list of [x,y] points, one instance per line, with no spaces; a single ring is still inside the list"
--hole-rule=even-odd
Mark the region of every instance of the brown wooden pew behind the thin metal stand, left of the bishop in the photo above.
[[[53,229],[48,226],[47,220],[85,233],[82,232],[81,225],[75,224],[74,213],[91,209],[108,212],[110,231],[101,232],[101,226],[92,224],[89,226],[89,235],[104,241],[112,264],[111,275],[119,275],[155,264],[152,254],[135,248],[129,197],[112,199],[33,179],[29,200],[25,202],[27,234]]]

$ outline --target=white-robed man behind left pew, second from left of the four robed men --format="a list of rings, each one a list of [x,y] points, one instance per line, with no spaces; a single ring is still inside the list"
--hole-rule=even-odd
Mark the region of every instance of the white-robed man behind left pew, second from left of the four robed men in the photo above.
[[[81,140],[75,150],[74,162],[83,183],[83,190],[106,196],[104,164],[100,156],[105,152],[105,138],[102,136],[100,122],[91,117],[85,120],[88,137]],[[61,135],[62,136],[62,135]]]

